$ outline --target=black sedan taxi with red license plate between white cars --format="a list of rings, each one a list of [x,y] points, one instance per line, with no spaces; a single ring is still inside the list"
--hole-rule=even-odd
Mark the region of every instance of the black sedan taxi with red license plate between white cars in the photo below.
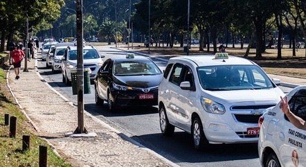
[[[143,56],[109,58],[99,69],[95,80],[96,105],[107,100],[109,110],[116,107],[157,105],[163,73]]]

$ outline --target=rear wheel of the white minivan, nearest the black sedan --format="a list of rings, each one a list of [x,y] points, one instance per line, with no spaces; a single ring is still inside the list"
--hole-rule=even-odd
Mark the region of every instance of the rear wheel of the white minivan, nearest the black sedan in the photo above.
[[[169,137],[173,135],[175,127],[169,123],[164,106],[161,106],[159,109],[159,125],[163,136]]]

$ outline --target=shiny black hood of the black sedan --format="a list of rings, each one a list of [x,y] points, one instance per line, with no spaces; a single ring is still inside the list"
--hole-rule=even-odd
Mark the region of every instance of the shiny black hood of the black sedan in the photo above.
[[[114,76],[114,82],[118,85],[129,87],[156,87],[161,83],[162,74],[153,76]]]

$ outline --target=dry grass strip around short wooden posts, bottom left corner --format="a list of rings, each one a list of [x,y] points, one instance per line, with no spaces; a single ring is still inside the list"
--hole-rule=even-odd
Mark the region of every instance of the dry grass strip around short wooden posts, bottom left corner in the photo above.
[[[5,125],[4,114],[17,117],[15,138],[9,136],[10,127]],[[22,151],[23,135],[30,136],[30,149],[25,152]],[[39,146],[48,146],[48,143],[35,135],[35,130],[8,91],[5,71],[0,69],[0,166],[39,166]],[[50,146],[47,159],[48,166],[71,166],[58,157]]]

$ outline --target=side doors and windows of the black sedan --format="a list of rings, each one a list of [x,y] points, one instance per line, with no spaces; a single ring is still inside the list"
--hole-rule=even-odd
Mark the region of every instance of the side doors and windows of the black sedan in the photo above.
[[[111,64],[112,61],[106,60],[100,68],[97,76],[97,90],[101,98],[107,99],[107,88],[111,84]]]

